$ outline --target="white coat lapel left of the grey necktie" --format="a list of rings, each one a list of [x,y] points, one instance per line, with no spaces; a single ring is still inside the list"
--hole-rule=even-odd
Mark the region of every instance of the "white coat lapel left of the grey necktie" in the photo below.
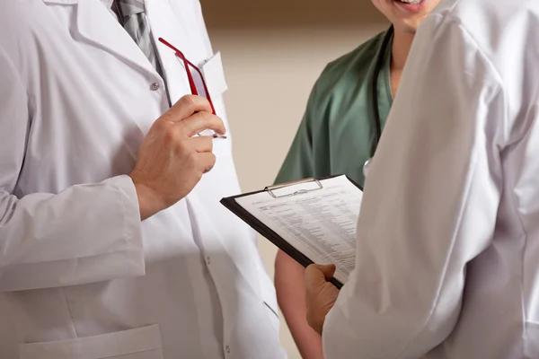
[[[44,0],[49,4],[74,4],[77,6],[76,27],[82,39],[87,40],[96,47],[102,48],[111,54],[120,57],[130,66],[159,77],[154,66],[148,61],[144,53],[138,48],[119,22],[108,13],[108,10],[99,0]],[[76,39],[76,36],[75,36]]]

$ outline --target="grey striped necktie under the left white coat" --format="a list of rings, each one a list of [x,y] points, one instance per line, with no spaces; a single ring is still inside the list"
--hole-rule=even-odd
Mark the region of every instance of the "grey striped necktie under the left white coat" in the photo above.
[[[157,73],[163,77],[161,64],[155,55],[154,43],[150,36],[144,0],[114,0],[112,11],[117,14],[119,22],[144,52]]]

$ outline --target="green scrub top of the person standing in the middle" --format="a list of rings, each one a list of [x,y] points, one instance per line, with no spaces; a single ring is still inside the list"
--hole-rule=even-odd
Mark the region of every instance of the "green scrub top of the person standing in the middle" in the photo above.
[[[276,183],[346,174],[363,186],[363,165],[376,145],[372,92],[385,32],[325,67]],[[393,102],[391,42],[378,76],[382,128]]]

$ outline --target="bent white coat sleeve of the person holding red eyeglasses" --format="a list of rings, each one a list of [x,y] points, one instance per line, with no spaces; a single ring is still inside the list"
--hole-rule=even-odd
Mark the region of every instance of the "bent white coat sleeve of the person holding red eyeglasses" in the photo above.
[[[81,285],[145,272],[137,193],[128,176],[16,197],[27,94],[0,47],[0,292]]]

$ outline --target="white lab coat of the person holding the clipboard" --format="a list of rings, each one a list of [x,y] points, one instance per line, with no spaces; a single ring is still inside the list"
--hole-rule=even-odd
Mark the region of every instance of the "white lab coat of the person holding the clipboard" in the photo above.
[[[539,1],[420,26],[369,172],[326,359],[539,358]]]

